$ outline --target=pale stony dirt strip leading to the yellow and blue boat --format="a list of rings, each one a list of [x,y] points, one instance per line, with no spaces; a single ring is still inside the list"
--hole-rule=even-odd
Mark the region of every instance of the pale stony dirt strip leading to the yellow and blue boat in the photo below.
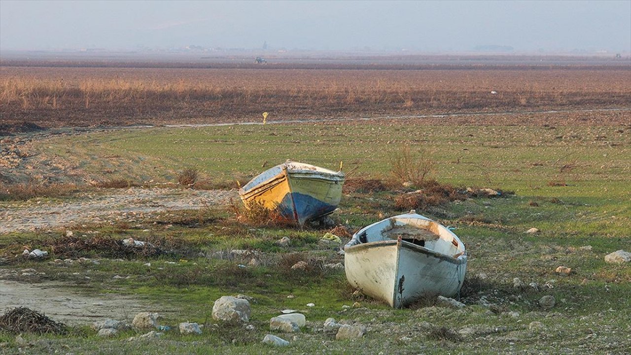
[[[0,206],[0,234],[52,229],[76,223],[136,222],[156,213],[226,205],[236,190],[178,188],[110,189],[107,195],[83,194],[64,202],[26,202]]]

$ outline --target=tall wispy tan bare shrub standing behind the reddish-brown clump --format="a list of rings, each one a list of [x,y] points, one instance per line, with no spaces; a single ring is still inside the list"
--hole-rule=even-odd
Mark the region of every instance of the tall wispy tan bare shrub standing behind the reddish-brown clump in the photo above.
[[[405,146],[394,152],[390,157],[390,174],[396,183],[412,183],[414,186],[423,184],[433,171],[435,160],[425,150],[413,154],[410,147]]]

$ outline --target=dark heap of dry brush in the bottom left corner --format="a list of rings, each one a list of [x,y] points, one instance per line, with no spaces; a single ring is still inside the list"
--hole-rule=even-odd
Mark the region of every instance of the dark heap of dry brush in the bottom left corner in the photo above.
[[[68,334],[68,326],[26,307],[13,308],[0,316],[0,329],[12,334]]]

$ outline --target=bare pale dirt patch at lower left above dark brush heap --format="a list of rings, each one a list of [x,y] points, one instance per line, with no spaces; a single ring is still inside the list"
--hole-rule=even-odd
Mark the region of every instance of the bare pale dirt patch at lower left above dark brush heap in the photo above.
[[[59,282],[28,284],[0,279],[0,294],[0,314],[28,307],[68,325],[86,325],[105,318],[131,322],[140,312],[156,311],[148,302],[119,295],[86,296],[69,291]]]

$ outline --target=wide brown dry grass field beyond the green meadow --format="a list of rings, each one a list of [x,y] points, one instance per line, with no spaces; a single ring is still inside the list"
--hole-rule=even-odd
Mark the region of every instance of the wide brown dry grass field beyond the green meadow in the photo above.
[[[3,66],[0,131],[20,131],[25,122],[43,127],[251,122],[260,121],[264,111],[269,120],[285,121],[615,109],[631,102],[628,66],[326,68]],[[570,116],[554,124],[578,121]]]

